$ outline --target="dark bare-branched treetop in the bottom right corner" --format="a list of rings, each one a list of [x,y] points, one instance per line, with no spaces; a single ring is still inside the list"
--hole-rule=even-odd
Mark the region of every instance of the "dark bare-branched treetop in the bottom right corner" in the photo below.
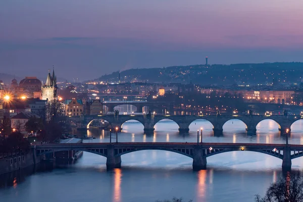
[[[256,202],[298,202],[303,201],[303,177],[300,173],[291,173],[272,183],[263,198],[259,194]]]

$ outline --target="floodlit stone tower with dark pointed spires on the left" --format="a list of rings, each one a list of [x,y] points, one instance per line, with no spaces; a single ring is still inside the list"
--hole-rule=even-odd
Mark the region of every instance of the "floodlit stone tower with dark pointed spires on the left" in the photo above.
[[[55,76],[55,69],[53,70],[53,76],[51,76],[48,70],[46,82],[42,84],[41,90],[43,100],[57,100],[57,77]]]

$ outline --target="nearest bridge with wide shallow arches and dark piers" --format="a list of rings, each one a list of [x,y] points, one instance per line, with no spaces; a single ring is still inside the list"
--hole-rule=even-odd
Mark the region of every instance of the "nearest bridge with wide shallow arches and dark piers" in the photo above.
[[[287,142],[287,140],[286,140]],[[120,168],[121,156],[139,150],[166,150],[193,159],[194,170],[206,169],[207,158],[229,151],[255,151],[282,160],[282,169],[291,169],[291,160],[303,156],[303,145],[259,143],[182,143],[182,142],[119,142],[119,143],[65,143],[32,145],[34,156],[63,150],[81,150],[107,158],[107,168]]]

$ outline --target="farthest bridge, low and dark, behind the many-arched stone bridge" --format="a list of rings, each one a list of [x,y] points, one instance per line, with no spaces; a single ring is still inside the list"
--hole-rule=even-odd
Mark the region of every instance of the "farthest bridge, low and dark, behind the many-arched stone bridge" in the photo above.
[[[108,107],[109,112],[114,112],[114,108],[120,105],[132,105],[137,108],[138,113],[143,112],[143,107],[148,107],[151,112],[165,108],[169,111],[174,109],[174,102],[145,102],[145,101],[103,101],[102,104]]]

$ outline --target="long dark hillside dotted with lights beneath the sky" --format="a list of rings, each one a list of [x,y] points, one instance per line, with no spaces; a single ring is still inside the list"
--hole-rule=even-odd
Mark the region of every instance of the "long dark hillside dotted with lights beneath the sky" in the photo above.
[[[300,82],[303,63],[262,63],[231,65],[189,65],[166,68],[129,69],[120,72],[121,82],[196,83],[202,85],[258,84]],[[119,72],[103,75],[94,81],[118,82]]]

